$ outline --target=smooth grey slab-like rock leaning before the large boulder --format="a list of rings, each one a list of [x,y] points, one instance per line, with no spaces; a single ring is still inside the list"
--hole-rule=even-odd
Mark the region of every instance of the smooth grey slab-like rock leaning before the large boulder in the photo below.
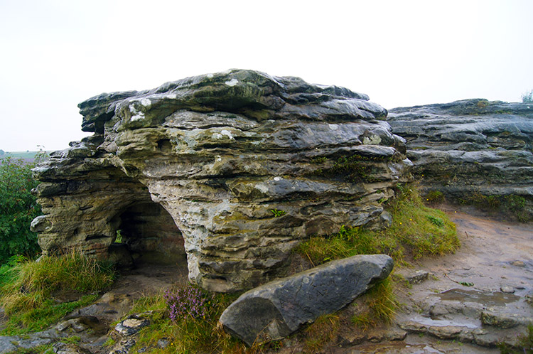
[[[227,307],[220,323],[247,345],[279,340],[350,304],[376,281],[387,278],[392,267],[386,254],[328,262],[247,291]]]

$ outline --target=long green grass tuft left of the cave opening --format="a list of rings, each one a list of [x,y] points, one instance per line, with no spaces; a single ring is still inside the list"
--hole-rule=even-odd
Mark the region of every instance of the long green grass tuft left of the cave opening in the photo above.
[[[0,335],[41,331],[74,309],[91,304],[113,280],[110,266],[79,252],[38,261],[12,260],[0,267],[0,306],[9,318]],[[58,300],[65,294],[76,300]]]

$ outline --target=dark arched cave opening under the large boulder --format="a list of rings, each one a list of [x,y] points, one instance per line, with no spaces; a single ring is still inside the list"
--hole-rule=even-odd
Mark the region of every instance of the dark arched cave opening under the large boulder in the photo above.
[[[119,267],[186,264],[183,235],[171,215],[150,201],[129,205],[111,220],[109,259]]]

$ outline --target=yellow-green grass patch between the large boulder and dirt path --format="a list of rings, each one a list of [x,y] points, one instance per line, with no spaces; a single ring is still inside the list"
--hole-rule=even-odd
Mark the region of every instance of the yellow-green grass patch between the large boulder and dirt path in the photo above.
[[[311,237],[297,252],[313,265],[355,254],[389,254],[405,263],[424,256],[454,252],[459,246],[456,227],[441,210],[427,208],[414,186],[399,187],[397,198],[385,205],[392,225],[384,230],[340,227],[330,236]]]

